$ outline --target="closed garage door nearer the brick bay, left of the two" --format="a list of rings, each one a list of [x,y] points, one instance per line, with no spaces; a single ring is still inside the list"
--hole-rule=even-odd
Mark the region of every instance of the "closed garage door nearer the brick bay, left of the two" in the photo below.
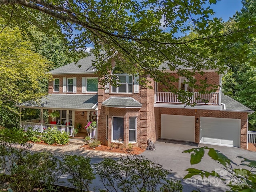
[[[195,117],[161,114],[161,138],[195,141]]]

